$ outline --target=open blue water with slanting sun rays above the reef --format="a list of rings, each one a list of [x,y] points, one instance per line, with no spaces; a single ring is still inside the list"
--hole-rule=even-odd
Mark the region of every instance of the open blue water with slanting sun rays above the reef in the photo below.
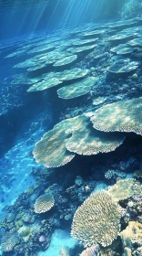
[[[98,18],[117,16],[124,1],[114,0],[42,0],[1,1],[0,37],[23,35],[66,26],[78,26]]]

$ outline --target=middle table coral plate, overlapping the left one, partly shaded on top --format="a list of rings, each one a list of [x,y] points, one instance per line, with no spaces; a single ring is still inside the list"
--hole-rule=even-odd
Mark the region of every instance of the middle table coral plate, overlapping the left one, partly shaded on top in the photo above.
[[[66,148],[78,155],[96,155],[115,150],[123,140],[121,134],[96,131],[91,127],[90,121],[84,118],[80,128],[73,131],[71,138],[66,142]]]

